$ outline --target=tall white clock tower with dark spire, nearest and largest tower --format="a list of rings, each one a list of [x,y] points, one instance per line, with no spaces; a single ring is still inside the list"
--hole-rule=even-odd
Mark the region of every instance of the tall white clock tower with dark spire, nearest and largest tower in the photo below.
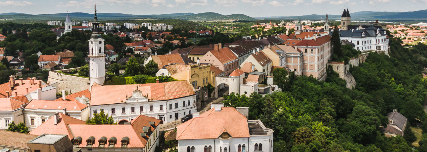
[[[91,86],[94,82],[103,85],[105,81],[105,54],[104,39],[99,34],[99,22],[97,17],[97,6],[95,5],[95,17],[93,22],[93,33],[89,40],[89,74]],[[89,88],[90,89],[90,88]]]

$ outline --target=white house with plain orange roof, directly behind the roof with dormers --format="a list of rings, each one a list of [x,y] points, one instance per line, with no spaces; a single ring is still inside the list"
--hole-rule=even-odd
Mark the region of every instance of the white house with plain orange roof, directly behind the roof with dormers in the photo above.
[[[84,121],[89,118],[89,106],[76,101],[31,100],[23,112],[25,125],[29,130],[35,129],[55,112],[62,112]]]

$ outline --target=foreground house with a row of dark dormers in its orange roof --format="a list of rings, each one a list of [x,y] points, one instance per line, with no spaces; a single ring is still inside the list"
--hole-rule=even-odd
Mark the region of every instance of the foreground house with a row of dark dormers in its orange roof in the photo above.
[[[53,115],[29,134],[67,135],[74,147],[82,151],[138,151],[154,152],[159,144],[161,120],[138,115],[129,124],[88,125],[85,121],[63,115]]]

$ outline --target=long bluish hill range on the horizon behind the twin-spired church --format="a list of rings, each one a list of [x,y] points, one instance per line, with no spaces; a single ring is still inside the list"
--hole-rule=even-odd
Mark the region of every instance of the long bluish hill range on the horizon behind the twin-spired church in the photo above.
[[[350,10],[351,11],[351,10]],[[427,10],[420,11],[358,11],[350,13],[351,20],[427,20]],[[301,20],[320,20],[325,19],[325,15],[311,14],[300,16]],[[339,15],[328,15],[329,20],[339,20]],[[275,19],[275,20],[287,20],[287,19],[298,19],[298,16],[282,16],[282,17],[254,17],[256,19]]]

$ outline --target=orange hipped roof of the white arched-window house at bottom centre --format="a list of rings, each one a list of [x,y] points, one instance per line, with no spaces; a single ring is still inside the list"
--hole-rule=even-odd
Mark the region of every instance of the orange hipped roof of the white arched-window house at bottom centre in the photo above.
[[[222,107],[220,112],[213,108],[179,125],[176,140],[213,139],[225,131],[233,138],[249,137],[248,119],[233,107]]]

